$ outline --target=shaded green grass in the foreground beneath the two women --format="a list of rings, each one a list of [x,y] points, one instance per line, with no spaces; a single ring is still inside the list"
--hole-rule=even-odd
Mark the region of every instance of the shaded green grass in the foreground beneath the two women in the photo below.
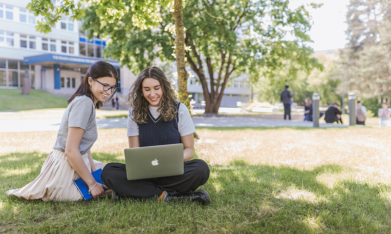
[[[19,160],[5,164],[7,170],[44,160],[34,153],[0,160],[18,155]],[[112,154],[93,157],[116,161]],[[391,233],[389,185],[373,187],[345,178],[328,187],[319,179],[345,170],[350,169],[336,164],[306,171],[245,161],[212,166],[202,186],[211,195],[210,206],[130,199],[112,203],[109,198],[55,203],[2,193],[0,227],[5,228],[0,233]],[[24,175],[0,174],[1,191],[15,188],[10,181],[24,180]]]

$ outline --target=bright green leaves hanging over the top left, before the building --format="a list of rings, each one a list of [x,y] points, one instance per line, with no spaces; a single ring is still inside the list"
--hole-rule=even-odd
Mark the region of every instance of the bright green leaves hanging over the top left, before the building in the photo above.
[[[122,19],[125,15],[131,14],[128,23],[141,29],[156,27],[161,21],[160,6],[170,7],[172,3],[171,0],[81,0],[78,2],[73,0],[31,0],[27,8],[35,16],[41,15],[44,17],[43,21],[37,22],[37,31],[49,33],[51,32],[50,26],[54,25],[63,16],[81,20],[84,17],[85,10],[90,7],[94,9],[96,17],[101,20],[102,25],[111,24]]]

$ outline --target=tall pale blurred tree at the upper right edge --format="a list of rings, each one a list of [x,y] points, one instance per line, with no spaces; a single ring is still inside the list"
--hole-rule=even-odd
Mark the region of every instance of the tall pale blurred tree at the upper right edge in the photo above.
[[[342,50],[343,81],[363,98],[391,97],[391,5],[382,0],[351,0],[349,42]]]

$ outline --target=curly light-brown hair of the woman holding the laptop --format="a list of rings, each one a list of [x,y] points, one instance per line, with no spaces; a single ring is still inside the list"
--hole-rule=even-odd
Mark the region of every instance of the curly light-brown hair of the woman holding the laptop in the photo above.
[[[163,121],[174,119],[177,112],[176,103],[178,102],[174,87],[166,74],[160,68],[153,66],[144,69],[130,87],[127,102],[129,102],[130,115],[133,121],[136,123],[148,122],[149,102],[142,96],[143,80],[145,78],[156,79],[162,88],[163,97],[160,99],[159,108],[157,108],[157,111],[160,112],[160,119]]]

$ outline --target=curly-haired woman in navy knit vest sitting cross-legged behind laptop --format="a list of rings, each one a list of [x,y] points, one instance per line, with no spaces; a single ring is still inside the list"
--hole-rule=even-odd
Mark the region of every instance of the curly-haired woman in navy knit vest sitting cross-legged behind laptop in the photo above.
[[[130,90],[129,147],[183,143],[184,174],[128,180],[125,164],[109,163],[101,177],[113,190],[112,200],[157,197],[209,204],[210,196],[205,190],[195,191],[208,180],[209,166],[201,159],[190,160],[194,156],[195,127],[189,110],[177,100],[170,80],[160,68],[149,67],[136,78]]]

